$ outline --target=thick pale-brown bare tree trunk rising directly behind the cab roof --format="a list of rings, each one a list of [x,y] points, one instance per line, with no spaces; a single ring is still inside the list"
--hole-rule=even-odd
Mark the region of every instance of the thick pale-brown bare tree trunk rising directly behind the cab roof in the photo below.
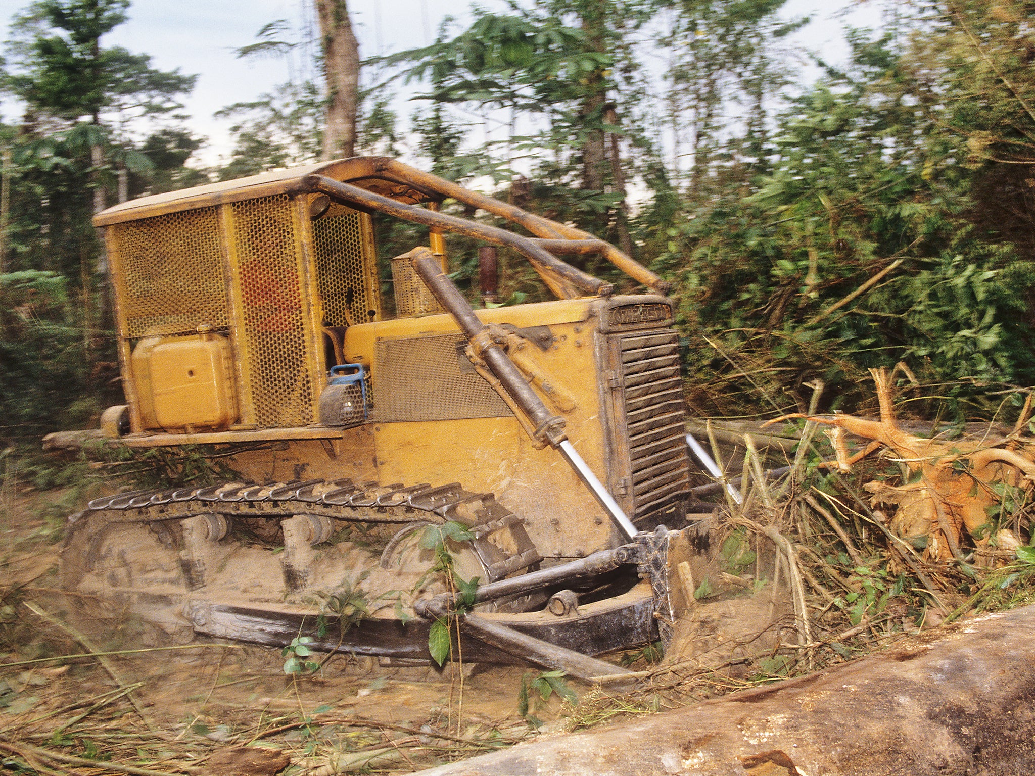
[[[356,152],[359,93],[359,43],[352,32],[346,0],[316,0],[327,79],[327,126],[323,158]]]

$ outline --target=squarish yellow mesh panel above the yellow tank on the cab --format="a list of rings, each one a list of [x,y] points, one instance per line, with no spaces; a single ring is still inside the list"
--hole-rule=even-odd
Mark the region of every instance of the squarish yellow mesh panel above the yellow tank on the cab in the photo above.
[[[215,208],[110,227],[122,269],[126,334],[183,334],[229,325]]]

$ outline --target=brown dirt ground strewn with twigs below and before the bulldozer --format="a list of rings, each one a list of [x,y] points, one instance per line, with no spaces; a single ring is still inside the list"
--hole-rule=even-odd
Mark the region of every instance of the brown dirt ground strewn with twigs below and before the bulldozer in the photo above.
[[[652,648],[624,656],[644,673],[624,694],[566,679],[552,687],[532,667],[349,655],[289,677],[273,649],[154,647],[139,623],[91,617],[88,596],[57,590],[54,498],[0,499],[0,763],[13,772],[408,773],[753,686],[793,626],[793,607],[767,587],[699,602],[663,662]],[[91,649],[131,652],[83,656]]]

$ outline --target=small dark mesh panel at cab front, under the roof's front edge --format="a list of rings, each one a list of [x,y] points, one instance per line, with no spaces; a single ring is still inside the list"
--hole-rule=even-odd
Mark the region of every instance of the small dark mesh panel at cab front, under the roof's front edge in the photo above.
[[[328,326],[367,323],[378,312],[377,292],[363,262],[363,217],[347,211],[313,221],[317,287]]]

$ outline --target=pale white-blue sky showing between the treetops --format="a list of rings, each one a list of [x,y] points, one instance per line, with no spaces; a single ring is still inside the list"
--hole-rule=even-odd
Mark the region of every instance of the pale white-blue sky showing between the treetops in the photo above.
[[[22,0],[0,3],[0,39],[8,38],[11,11],[28,5]],[[489,9],[504,8],[503,0],[479,0]],[[441,20],[468,18],[470,4],[457,0],[363,0],[350,3],[353,25],[363,57],[389,54],[430,43]],[[11,10],[7,10],[10,8]],[[879,12],[859,0],[789,0],[783,16],[809,16],[812,24],[800,42],[829,60],[844,59],[840,34],[848,12],[856,25],[877,26]],[[296,25],[314,24],[312,0],[135,0],[129,20],[102,40],[152,57],[159,69],[179,68],[199,76],[194,92],[184,99],[188,126],[208,139],[202,150],[205,163],[226,157],[232,143],[229,120],[212,115],[228,105],[257,98],[287,80],[287,65],[278,59],[241,59],[236,50],[255,42],[264,25],[287,19]],[[402,106],[404,113],[410,109]],[[0,101],[0,117],[13,121],[20,107]]]

